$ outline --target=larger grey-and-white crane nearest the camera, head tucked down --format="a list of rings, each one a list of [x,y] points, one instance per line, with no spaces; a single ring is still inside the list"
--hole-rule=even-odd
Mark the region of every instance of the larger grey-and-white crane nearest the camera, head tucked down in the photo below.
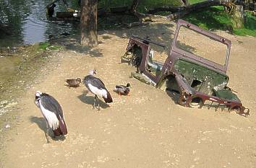
[[[54,97],[46,93],[35,93],[35,105],[40,108],[43,118],[46,119],[48,142],[49,128],[54,132],[55,136],[61,136],[67,134],[67,125],[64,120],[63,111],[61,105]],[[45,132],[46,134],[46,132]]]

